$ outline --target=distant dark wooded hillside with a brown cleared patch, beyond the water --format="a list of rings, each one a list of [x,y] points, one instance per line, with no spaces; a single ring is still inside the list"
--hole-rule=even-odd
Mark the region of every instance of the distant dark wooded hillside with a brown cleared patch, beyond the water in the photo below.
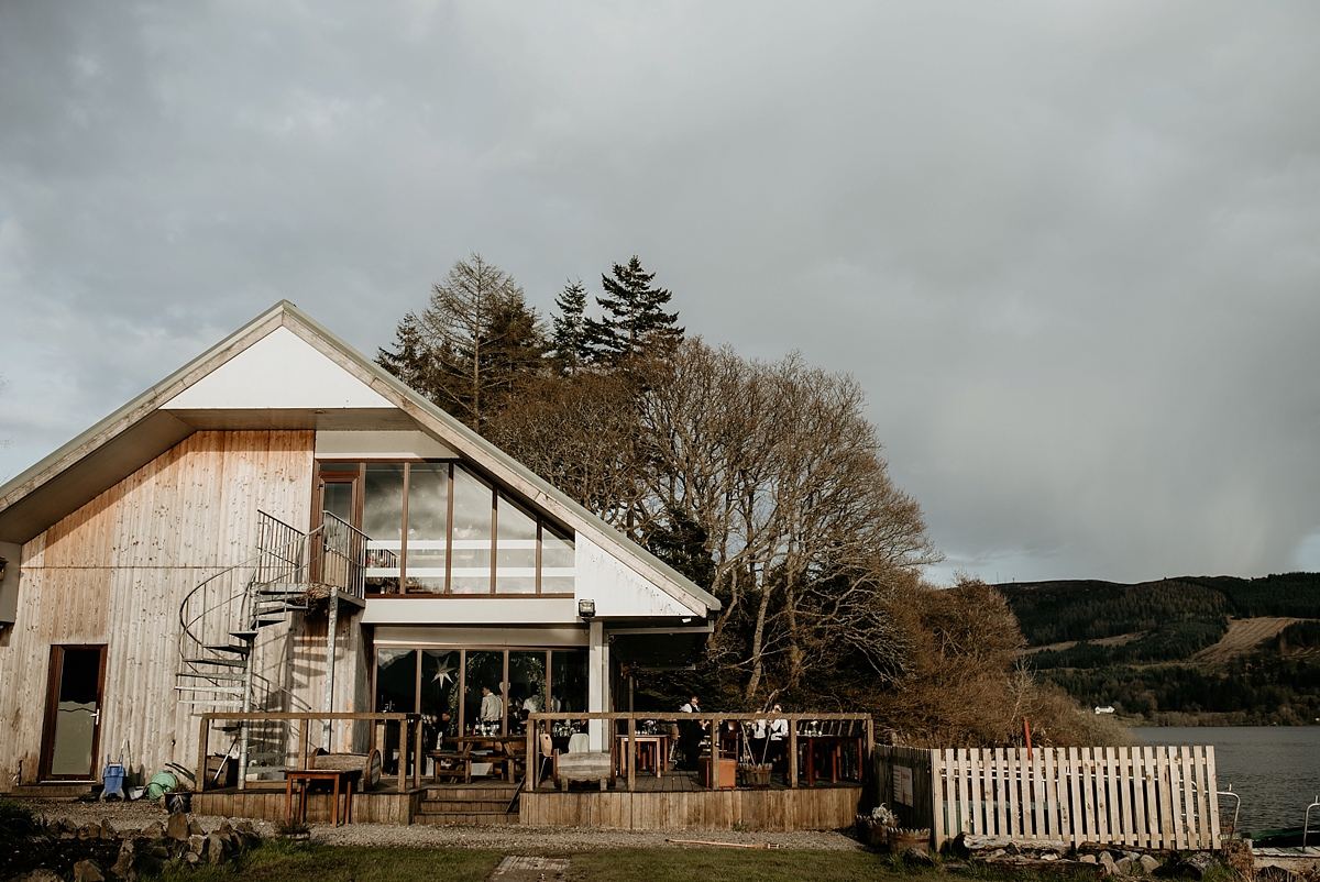
[[[1086,705],[1167,725],[1320,718],[1320,573],[998,588],[1024,663]]]

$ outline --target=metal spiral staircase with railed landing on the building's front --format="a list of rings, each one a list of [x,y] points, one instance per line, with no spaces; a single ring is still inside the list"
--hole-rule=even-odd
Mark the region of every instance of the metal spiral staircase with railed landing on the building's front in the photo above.
[[[319,527],[302,532],[259,511],[251,557],[210,576],[180,607],[174,687],[180,701],[194,714],[313,710],[309,697],[259,672],[259,638],[265,628],[288,626],[315,598],[364,605],[368,564],[396,565],[391,552],[371,548],[367,536],[330,512],[323,512]],[[268,644],[281,654],[285,648],[282,640]],[[289,724],[246,722],[218,729],[234,735],[230,755],[248,775],[289,767]],[[240,786],[244,780],[240,775]]]

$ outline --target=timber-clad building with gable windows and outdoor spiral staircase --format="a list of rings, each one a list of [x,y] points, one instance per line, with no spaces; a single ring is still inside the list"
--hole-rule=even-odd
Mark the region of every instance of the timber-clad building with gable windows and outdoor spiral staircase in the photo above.
[[[719,609],[288,302],[0,487],[0,791],[190,766],[206,710],[619,709]],[[289,733],[220,747],[275,778]]]

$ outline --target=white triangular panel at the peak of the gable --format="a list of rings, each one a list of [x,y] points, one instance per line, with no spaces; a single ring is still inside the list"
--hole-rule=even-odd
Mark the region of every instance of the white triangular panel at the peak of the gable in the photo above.
[[[281,326],[172,397],[164,409],[389,407],[379,392]]]

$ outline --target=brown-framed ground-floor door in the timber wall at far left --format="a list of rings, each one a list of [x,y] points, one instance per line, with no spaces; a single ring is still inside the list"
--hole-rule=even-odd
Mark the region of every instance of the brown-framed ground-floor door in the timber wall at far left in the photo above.
[[[106,647],[50,647],[46,722],[41,735],[42,780],[94,780],[100,749]]]

